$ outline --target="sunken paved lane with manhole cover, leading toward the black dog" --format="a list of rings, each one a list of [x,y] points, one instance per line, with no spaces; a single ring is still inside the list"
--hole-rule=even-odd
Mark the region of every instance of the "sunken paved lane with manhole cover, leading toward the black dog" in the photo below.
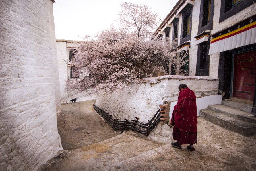
[[[61,106],[57,114],[58,132],[64,150],[75,150],[90,144],[104,141],[120,132],[116,132],[92,109],[95,100],[68,103]],[[82,131],[74,131],[84,127]]]

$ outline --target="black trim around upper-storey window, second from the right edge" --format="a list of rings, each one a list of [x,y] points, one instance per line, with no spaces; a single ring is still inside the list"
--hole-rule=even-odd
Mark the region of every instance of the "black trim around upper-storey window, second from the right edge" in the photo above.
[[[202,21],[203,21],[203,0],[201,0],[200,15],[199,15],[199,25],[198,25],[198,32],[197,32],[197,34],[200,34],[201,32],[204,32],[206,30],[212,30],[212,27],[213,27],[213,14],[214,14],[214,0],[211,0],[211,9],[210,9],[209,23],[202,27]]]

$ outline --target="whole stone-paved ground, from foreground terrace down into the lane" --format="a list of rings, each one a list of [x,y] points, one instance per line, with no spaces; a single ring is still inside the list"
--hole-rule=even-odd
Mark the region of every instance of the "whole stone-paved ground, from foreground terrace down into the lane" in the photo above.
[[[86,129],[84,132],[81,131],[81,135],[82,133],[84,134],[91,131],[90,136],[84,136],[86,138],[88,137],[86,140],[84,140],[84,138],[81,140],[82,138],[79,137],[79,133],[73,135],[74,132],[72,131],[66,133],[64,131],[63,135],[61,135],[61,141],[63,146],[66,144],[66,149],[78,148],[86,144],[89,145],[76,150],[63,152],[59,157],[55,158],[50,165],[42,168],[41,171],[256,171],[256,144],[254,144],[256,143],[256,136],[245,137],[198,117],[198,141],[197,144],[194,145],[196,152],[192,153],[186,149],[186,145],[182,145],[182,149],[176,149],[170,144],[161,144],[155,141],[150,141],[146,137],[138,136],[130,131],[123,134],[118,133],[116,134],[117,136],[115,136],[115,132],[110,127],[106,126],[106,124],[104,125],[104,122],[102,123],[102,120],[100,121],[98,119],[100,116],[92,111],[92,104],[93,101],[77,103],[76,108],[74,108],[73,111],[68,105],[72,106],[75,104],[70,103],[67,104],[67,106],[64,106],[67,107],[71,113],[78,113],[80,110],[80,114],[77,114],[77,122],[79,122],[78,118],[84,117],[83,115],[85,115],[85,111],[90,109],[91,111],[88,113],[91,113],[90,115],[93,117],[88,117],[87,119],[94,118],[99,122],[98,124],[102,125],[102,129],[99,129],[99,125],[94,124],[90,129],[87,128],[88,130]],[[62,107],[63,112],[65,112],[64,106]],[[68,113],[66,115],[68,115]],[[72,115],[74,116],[75,114]],[[60,116],[58,116],[58,118]],[[76,120],[75,117],[66,117]],[[59,121],[60,120],[58,119],[58,127],[63,125],[62,129],[65,130],[64,126],[66,122],[64,121],[65,123],[60,124]],[[66,119],[66,121],[69,120]],[[80,124],[75,124],[76,122],[73,122],[73,124],[71,123],[72,121],[67,122],[66,124],[70,127],[68,130],[81,126]],[[103,128],[105,126],[107,129]],[[95,127],[98,127],[96,130],[105,130],[106,133],[92,133],[95,131]],[[171,130],[172,129],[170,128],[170,131]],[[112,138],[108,139],[108,133]],[[104,138],[101,138],[98,135],[104,136]],[[100,141],[103,139],[105,140]],[[97,141],[100,142],[95,143]],[[72,145],[72,143],[77,145]],[[73,146],[73,148],[69,148],[68,145]]]

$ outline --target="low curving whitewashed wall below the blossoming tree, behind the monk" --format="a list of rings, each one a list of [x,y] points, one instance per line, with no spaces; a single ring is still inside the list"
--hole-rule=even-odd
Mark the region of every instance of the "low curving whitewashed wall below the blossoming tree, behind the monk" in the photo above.
[[[98,95],[96,97],[96,106],[103,109],[112,117],[124,120],[135,119],[139,117],[140,122],[146,123],[150,120],[159,105],[164,101],[173,101],[171,103],[171,113],[175,103],[178,100],[178,87],[184,83],[192,89],[196,96],[210,95],[197,99],[199,101],[198,109],[206,108],[207,105],[220,104],[222,96],[218,95],[218,78],[207,76],[175,76],[166,75],[155,78],[144,78],[142,83],[130,85],[130,89],[119,91],[110,95]],[[170,127],[159,124],[150,137],[158,141],[164,137],[168,139]]]

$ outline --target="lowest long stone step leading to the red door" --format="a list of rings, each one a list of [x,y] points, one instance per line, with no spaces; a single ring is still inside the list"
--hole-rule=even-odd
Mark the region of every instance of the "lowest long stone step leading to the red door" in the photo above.
[[[256,124],[242,121],[238,118],[234,118],[223,113],[219,113],[210,109],[202,109],[199,111],[199,116],[205,120],[219,125],[225,129],[240,133],[245,136],[256,134]]]

